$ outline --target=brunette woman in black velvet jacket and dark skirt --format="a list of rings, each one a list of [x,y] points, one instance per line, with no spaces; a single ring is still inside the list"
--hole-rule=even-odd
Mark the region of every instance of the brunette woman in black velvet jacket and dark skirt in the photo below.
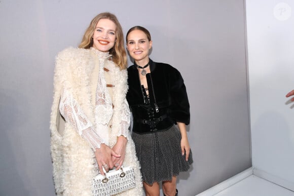
[[[190,123],[186,87],[177,69],[149,58],[152,41],[147,29],[132,27],[126,40],[134,59],[128,68],[127,100],[145,192],[158,196],[162,182],[164,194],[174,196],[176,176],[193,162],[186,132]]]

